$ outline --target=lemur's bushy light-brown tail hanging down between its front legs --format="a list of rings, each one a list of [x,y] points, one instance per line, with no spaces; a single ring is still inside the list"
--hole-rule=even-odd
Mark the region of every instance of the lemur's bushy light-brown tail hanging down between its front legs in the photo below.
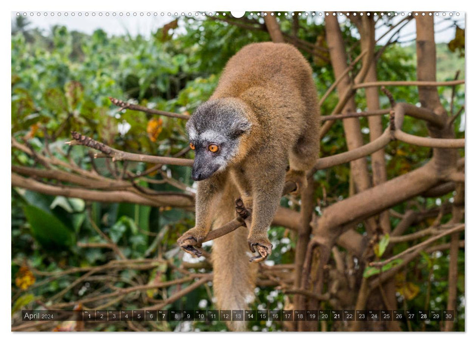
[[[233,185],[225,187],[213,228],[236,217],[237,194]],[[247,237],[248,229],[240,227],[213,242],[213,290],[220,310],[246,310],[254,300],[257,265],[249,262],[251,252]],[[244,320],[226,322],[233,331],[246,331],[247,323]]]

